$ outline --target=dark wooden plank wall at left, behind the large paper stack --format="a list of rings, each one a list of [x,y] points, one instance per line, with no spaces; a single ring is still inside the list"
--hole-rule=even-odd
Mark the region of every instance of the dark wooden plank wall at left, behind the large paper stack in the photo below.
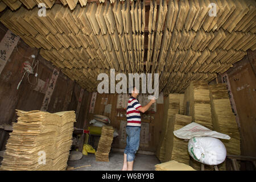
[[[5,36],[7,30],[0,23],[0,40]],[[24,77],[19,89],[16,89],[23,76],[21,72],[22,64],[27,60],[32,63],[32,59],[28,58],[28,56],[34,54],[36,60],[39,60],[38,78],[41,80],[49,82],[54,69],[51,63],[39,55],[38,49],[30,48],[22,39],[19,40],[17,48],[18,51],[16,48],[14,49],[0,75],[0,125],[11,125],[12,122],[16,121],[15,109],[40,110],[42,106],[45,94],[34,90],[36,85],[28,83],[27,75]],[[34,83],[35,81],[35,77],[31,75],[30,82]],[[80,90],[81,87],[76,82],[60,72],[47,111],[55,113],[64,110],[76,110]],[[88,100],[90,100],[90,95],[89,92],[85,91],[82,97],[80,114],[75,123],[76,127],[83,127],[85,124]],[[5,149],[8,138],[9,133],[0,129],[0,151]]]

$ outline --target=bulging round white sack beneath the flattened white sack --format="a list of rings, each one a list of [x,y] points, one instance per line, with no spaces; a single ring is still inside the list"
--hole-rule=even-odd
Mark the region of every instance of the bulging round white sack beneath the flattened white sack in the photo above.
[[[213,137],[193,137],[188,142],[188,152],[193,159],[210,166],[226,159],[226,147],[221,140]]]

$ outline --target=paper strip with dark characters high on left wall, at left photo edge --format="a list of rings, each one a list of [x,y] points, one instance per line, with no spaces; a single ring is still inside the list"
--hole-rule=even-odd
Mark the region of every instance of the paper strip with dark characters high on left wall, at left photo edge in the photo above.
[[[7,61],[9,60],[11,53],[13,53],[14,48],[16,47],[19,41],[19,36],[16,36],[8,30],[0,42],[0,74],[5,68]]]

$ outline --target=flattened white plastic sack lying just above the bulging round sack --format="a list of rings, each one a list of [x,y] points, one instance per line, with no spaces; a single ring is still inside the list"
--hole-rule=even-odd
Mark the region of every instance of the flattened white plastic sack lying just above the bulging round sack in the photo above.
[[[192,122],[189,125],[182,127],[179,130],[174,131],[174,135],[181,139],[191,139],[192,137],[214,137],[222,139],[230,139],[229,135],[212,131],[207,127]]]

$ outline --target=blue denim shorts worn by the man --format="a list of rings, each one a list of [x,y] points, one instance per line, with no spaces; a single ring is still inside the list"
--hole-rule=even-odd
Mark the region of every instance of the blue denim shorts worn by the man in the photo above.
[[[131,162],[135,158],[135,154],[139,149],[139,138],[141,136],[141,127],[127,126],[126,127],[127,139],[125,154],[127,154],[127,161]]]

